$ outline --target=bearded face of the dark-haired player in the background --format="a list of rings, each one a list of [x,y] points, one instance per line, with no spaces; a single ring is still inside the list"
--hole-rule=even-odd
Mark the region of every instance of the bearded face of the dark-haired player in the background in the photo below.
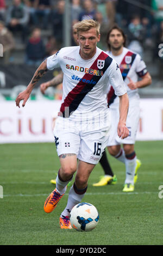
[[[108,42],[113,50],[120,50],[124,43],[123,35],[117,29],[112,29]]]

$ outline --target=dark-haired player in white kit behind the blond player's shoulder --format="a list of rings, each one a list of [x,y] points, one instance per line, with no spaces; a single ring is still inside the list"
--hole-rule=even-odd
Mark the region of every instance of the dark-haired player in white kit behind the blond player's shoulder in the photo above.
[[[112,129],[108,141],[108,150],[112,156],[126,165],[126,180],[124,181],[123,191],[130,192],[134,191],[134,184],[137,181],[137,169],[141,166],[140,160],[136,158],[134,149],[140,114],[138,88],[149,86],[152,79],[140,55],[125,47],[126,36],[117,25],[114,25],[108,32],[107,42],[109,47],[107,53],[116,60],[117,69],[120,68],[121,70],[129,96],[129,112],[127,116],[129,136],[122,140],[118,138],[116,129]],[[141,78],[140,81],[138,81],[139,77]],[[108,105],[111,112],[112,126],[116,127],[118,124],[118,97],[115,95],[114,88],[111,85],[108,93]],[[123,148],[121,148],[121,144]],[[99,183],[95,185],[98,186]]]

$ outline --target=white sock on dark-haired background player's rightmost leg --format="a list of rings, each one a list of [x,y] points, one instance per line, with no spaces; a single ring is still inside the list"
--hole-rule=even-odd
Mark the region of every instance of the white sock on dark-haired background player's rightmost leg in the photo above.
[[[124,183],[125,184],[131,183],[132,185],[134,185],[136,156],[134,157],[134,159],[131,159],[131,160],[126,158],[125,164],[126,164],[126,180]]]

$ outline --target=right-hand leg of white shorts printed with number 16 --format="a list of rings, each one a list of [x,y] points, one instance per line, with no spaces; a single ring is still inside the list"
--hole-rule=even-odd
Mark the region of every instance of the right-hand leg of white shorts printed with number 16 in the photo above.
[[[110,126],[83,132],[78,159],[87,163],[97,164],[107,145],[109,133]]]

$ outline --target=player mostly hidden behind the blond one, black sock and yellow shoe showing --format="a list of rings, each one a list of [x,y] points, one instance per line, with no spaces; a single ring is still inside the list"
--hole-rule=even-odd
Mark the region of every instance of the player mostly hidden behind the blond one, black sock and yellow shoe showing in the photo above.
[[[77,29],[73,29],[73,40],[76,43],[76,45],[79,45],[78,42],[78,36],[77,36]],[[45,91],[48,87],[57,87],[57,89],[61,90],[62,89],[62,81],[63,81],[63,77],[64,74],[62,73],[62,71],[55,76],[52,80],[45,82],[45,83],[41,83],[40,84],[40,90],[42,94],[45,94]],[[57,117],[53,117],[53,129],[55,126],[55,120]],[[117,177],[116,175],[113,174],[112,169],[110,167],[110,164],[108,162],[107,156],[106,156],[106,151],[103,151],[103,155],[101,157],[101,159],[99,160],[99,163],[101,164],[102,168],[104,169],[105,175],[102,176],[101,181],[98,182],[98,184],[93,184],[93,186],[105,186],[107,184],[116,184],[117,183]],[[50,181],[52,184],[56,184],[56,179],[52,179]],[[71,185],[68,184],[68,186]]]

